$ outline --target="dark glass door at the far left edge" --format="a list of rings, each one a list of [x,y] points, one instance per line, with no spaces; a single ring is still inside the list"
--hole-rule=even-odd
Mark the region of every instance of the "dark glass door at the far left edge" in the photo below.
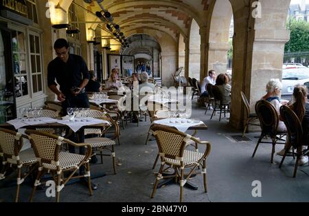
[[[0,123],[16,118],[10,30],[0,25]]]

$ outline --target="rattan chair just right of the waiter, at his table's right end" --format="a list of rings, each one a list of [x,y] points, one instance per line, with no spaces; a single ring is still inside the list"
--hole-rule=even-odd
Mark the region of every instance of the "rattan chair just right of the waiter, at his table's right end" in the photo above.
[[[101,131],[100,134],[98,134],[98,129],[95,129],[95,131],[93,131],[93,134],[97,134],[99,135],[98,137],[94,137],[94,138],[85,138],[84,142],[88,143],[91,145],[93,152],[99,152],[98,155],[101,156],[101,163],[103,162],[103,158],[102,156],[106,155],[103,154],[102,151],[104,151],[104,149],[111,151],[111,156],[113,158],[113,170],[114,170],[114,174],[116,174],[116,160],[115,160],[115,139],[119,140],[119,125],[117,124],[117,122],[115,122],[113,120],[113,118],[111,118],[111,116],[109,116],[106,111],[102,111],[100,109],[90,109],[89,117],[92,118],[100,118],[100,119],[104,119],[104,120],[108,120],[109,122],[111,122],[111,126],[113,125],[115,127],[115,131],[114,131],[114,135],[113,138],[104,138],[102,137],[102,135],[104,133],[106,133],[106,131],[111,127],[106,127],[104,130]],[[91,134],[89,131],[87,134]]]

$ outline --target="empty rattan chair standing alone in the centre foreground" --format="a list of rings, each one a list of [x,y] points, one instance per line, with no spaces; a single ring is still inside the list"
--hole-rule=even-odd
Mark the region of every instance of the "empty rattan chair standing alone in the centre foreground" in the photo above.
[[[162,175],[163,171],[166,169],[174,169],[176,180],[179,180],[180,183],[180,202],[183,201],[183,186],[190,178],[192,174],[196,173],[196,169],[201,165],[204,178],[204,190],[207,193],[207,180],[206,180],[206,159],[210,153],[211,145],[209,142],[200,141],[196,138],[172,129],[169,127],[154,126],[152,131],[157,140],[159,147],[159,155],[161,157],[161,166],[159,173],[157,174],[157,179],[153,187],[152,195],[155,196],[157,186],[159,181],[167,176]],[[194,141],[198,144],[205,144],[206,148],[203,153],[199,151],[192,151],[189,147],[188,141]],[[165,168],[167,166],[167,168]],[[190,169],[190,172],[185,174],[185,169]],[[169,176],[170,177],[170,176]]]

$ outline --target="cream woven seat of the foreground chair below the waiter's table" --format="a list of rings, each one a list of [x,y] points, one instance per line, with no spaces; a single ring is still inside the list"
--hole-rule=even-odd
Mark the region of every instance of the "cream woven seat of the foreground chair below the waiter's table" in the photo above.
[[[60,169],[76,168],[78,164],[84,159],[84,155],[60,151],[59,153],[59,166]],[[56,165],[43,163],[45,169],[56,170]]]

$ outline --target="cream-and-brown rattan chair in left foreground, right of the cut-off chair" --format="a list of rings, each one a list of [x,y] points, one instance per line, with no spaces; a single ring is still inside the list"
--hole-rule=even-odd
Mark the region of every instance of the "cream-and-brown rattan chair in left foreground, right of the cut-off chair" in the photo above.
[[[34,182],[30,202],[32,202],[36,186],[41,184],[40,180],[45,172],[52,173],[52,177],[56,184],[56,202],[60,201],[60,191],[62,191],[62,188],[65,187],[65,184],[67,184],[71,178],[87,177],[89,193],[93,195],[89,168],[89,158],[91,157],[90,144],[77,144],[61,136],[41,131],[26,130],[25,133],[30,136],[30,142],[34,148],[36,160],[38,160],[38,173],[36,175],[36,181]],[[87,151],[84,155],[60,151],[62,142],[66,142],[75,147],[84,147]],[[80,166],[86,166],[86,173],[73,177],[76,171],[80,169]],[[69,177],[65,178],[63,173],[67,171],[71,171],[71,173]]]

